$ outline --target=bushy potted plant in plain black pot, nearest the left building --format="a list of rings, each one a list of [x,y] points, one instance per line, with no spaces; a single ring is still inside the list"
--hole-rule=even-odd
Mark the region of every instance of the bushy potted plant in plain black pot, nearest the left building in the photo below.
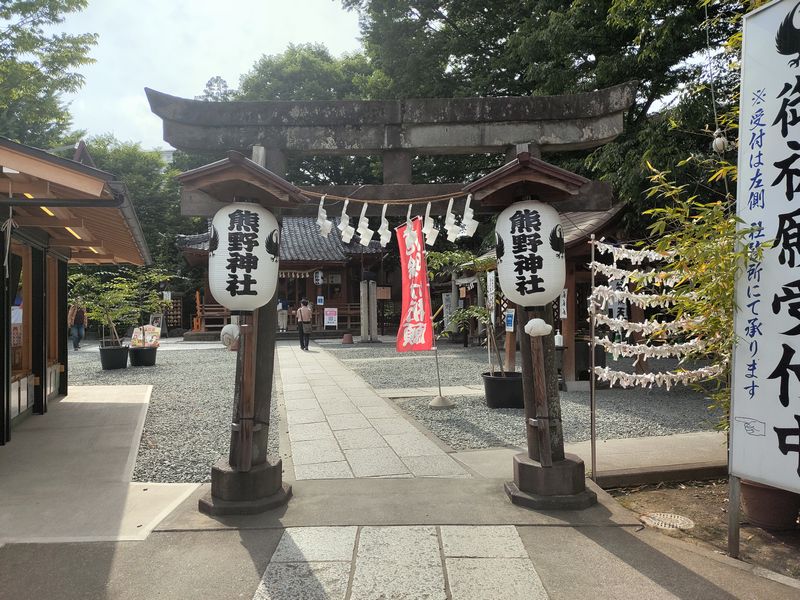
[[[117,274],[76,273],[70,276],[73,297],[82,297],[86,317],[101,325],[100,364],[104,370],[128,366],[128,346],[122,344],[118,327],[134,323],[137,309],[131,303],[130,285]],[[106,338],[108,331],[109,338]]]

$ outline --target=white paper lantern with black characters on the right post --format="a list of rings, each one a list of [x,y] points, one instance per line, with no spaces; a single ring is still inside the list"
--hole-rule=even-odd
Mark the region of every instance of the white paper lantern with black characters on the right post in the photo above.
[[[564,289],[564,233],[556,210],[542,202],[517,202],[497,217],[497,277],[503,294],[519,306],[543,306]]]

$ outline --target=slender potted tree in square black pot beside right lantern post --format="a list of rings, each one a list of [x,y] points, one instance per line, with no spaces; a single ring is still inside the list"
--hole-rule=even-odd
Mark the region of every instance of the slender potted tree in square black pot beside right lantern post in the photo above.
[[[463,331],[469,328],[473,319],[486,327],[486,343],[489,346],[489,370],[481,373],[486,405],[489,408],[523,408],[522,373],[503,370],[503,359],[488,309],[480,306],[460,308],[452,314],[450,322],[456,330]],[[494,359],[497,359],[497,369]]]

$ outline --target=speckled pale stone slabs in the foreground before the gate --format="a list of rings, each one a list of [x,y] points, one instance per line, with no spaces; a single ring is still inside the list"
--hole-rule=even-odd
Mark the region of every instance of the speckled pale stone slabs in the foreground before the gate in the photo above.
[[[292,527],[254,600],[546,600],[505,526]]]

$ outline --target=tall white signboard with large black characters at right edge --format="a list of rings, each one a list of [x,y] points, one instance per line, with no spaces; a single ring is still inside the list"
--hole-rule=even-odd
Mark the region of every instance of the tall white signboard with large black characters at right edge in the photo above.
[[[745,17],[737,214],[765,248],[737,280],[731,473],[800,492],[800,14]],[[794,21],[794,22],[793,22]]]

